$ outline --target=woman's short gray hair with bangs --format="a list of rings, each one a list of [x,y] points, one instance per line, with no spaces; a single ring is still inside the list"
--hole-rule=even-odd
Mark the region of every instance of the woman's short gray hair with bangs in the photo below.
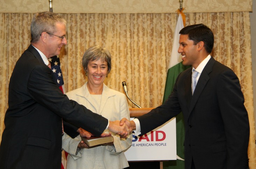
[[[90,47],[89,49],[87,49],[83,55],[83,59],[82,59],[82,65],[83,68],[86,72],[87,66],[88,66],[88,62],[89,61],[94,61],[94,60],[102,60],[102,61],[106,61],[107,62],[107,66],[108,66],[108,74],[111,71],[111,54],[108,51],[108,49],[106,48],[102,48],[99,45]]]

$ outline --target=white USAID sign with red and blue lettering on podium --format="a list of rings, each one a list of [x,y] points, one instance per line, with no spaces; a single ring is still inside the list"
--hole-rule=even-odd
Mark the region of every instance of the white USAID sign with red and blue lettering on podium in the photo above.
[[[125,155],[128,161],[176,160],[176,118],[143,136],[133,132],[133,142]]]

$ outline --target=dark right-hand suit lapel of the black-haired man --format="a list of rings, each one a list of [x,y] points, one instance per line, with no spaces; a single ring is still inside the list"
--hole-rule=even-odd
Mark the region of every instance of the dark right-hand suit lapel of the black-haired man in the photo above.
[[[209,80],[209,73],[212,71],[214,62],[215,62],[215,60],[213,59],[213,57],[211,57],[211,59],[206,64],[205,68],[202,70],[202,73],[198,79],[197,86],[195,87],[195,91],[194,91],[194,94],[193,94],[191,102],[190,102],[189,115],[192,112],[193,108],[195,107],[202,91],[204,90],[204,88]],[[190,83],[191,83],[191,80],[190,80]],[[192,93],[191,93],[191,95],[192,95]]]

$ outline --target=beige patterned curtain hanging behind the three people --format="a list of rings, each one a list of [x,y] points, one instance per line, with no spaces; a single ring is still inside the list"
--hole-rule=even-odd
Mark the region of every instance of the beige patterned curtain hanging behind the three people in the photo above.
[[[101,45],[112,54],[112,70],[105,84],[128,94],[141,107],[161,105],[177,14],[61,14],[67,21],[68,44],[61,67],[66,91],[86,82],[81,58]],[[249,12],[187,13],[186,25],[204,23],[214,32],[213,57],[235,71],[241,81],[250,120],[250,168],[256,167],[255,123]],[[0,14],[0,135],[8,107],[8,82],[15,62],[28,47],[33,14]],[[129,107],[135,107],[128,100]]]

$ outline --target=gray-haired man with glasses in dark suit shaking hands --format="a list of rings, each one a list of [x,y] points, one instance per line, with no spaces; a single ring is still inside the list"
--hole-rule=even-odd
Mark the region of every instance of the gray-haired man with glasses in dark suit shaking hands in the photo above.
[[[108,128],[125,137],[126,128],[120,128],[119,121],[108,121],[59,90],[48,59],[67,44],[65,20],[54,13],[38,13],[30,29],[31,45],[10,77],[0,168],[61,168],[62,119],[76,125],[68,134],[83,128],[99,136]]]

